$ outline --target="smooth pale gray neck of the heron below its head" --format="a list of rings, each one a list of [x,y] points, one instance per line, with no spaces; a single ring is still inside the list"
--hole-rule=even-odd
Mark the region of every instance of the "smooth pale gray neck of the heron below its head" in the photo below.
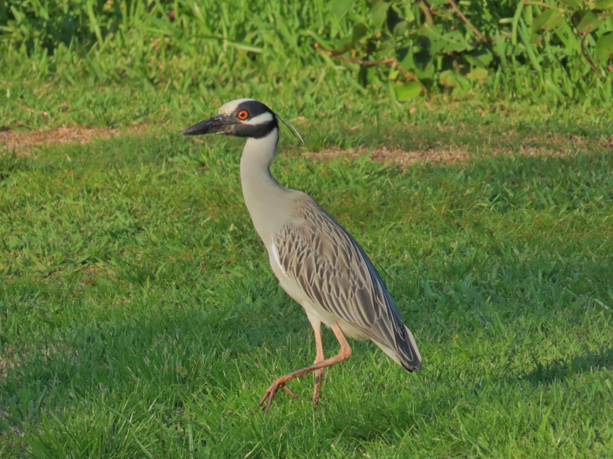
[[[283,224],[284,204],[287,203],[288,193],[291,193],[270,173],[278,141],[278,129],[259,139],[249,138],[240,158],[240,181],[245,204],[253,226],[267,248],[272,235]]]

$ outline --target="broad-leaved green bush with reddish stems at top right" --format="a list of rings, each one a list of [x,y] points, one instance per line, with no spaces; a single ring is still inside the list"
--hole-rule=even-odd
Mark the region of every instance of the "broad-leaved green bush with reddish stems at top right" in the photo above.
[[[352,3],[337,6],[351,34],[324,52],[359,64],[364,84],[396,82],[398,100],[479,86],[611,98],[613,0],[377,1],[366,18],[352,15]]]

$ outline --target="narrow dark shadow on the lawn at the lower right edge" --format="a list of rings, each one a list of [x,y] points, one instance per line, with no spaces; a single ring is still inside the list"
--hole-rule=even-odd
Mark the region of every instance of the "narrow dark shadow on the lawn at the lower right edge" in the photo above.
[[[613,368],[613,345],[607,343],[601,346],[597,352],[588,351],[581,356],[570,357],[569,359],[556,359],[552,362],[541,363],[535,356],[535,370],[527,373],[524,379],[530,381],[534,386],[540,384],[551,384],[573,376],[576,373],[585,373],[590,370],[600,368]]]

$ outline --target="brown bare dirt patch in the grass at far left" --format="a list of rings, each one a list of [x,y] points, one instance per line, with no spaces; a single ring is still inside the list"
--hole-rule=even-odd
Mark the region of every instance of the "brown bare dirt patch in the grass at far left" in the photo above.
[[[35,129],[29,132],[17,130],[0,131],[0,152],[15,151],[20,156],[30,156],[36,147],[52,144],[89,143],[96,139],[107,139],[120,134],[136,135],[148,129],[145,124],[130,128],[66,126],[57,129]]]

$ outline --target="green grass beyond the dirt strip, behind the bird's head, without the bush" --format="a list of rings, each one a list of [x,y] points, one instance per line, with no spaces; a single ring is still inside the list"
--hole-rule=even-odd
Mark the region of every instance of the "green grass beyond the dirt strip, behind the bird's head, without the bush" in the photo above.
[[[399,10],[411,9],[395,3]],[[485,80],[463,75],[474,70],[468,62],[451,69],[458,53],[436,54],[427,69],[409,69],[430,88],[428,94],[398,103],[395,88],[406,83],[406,75],[392,78],[397,69],[387,65],[366,72],[314,47],[343,48],[364,24],[367,36],[375,37],[368,40],[377,42],[369,2],[18,0],[0,5],[0,127],[145,122],[177,130],[186,116],[210,113],[238,97],[264,100],[289,118],[304,116],[312,132],[328,136],[330,120],[367,119],[371,125],[376,118],[406,125],[429,116],[429,110],[451,119],[458,111],[502,116],[510,111],[528,120],[555,116],[571,125],[610,124],[607,62],[599,64],[603,75],[592,72],[579,52],[580,36],[569,26],[531,43],[531,21],[543,8],[499,3],[461,5],[491,35],[492,43],[481,51],[489,60],[492,52],[499,56],[485,65],[487,71],[478,67]],[[444,16],[449,15],[458,30],[466,28],[457,15]],[[611,30],[611,18],[605,19],[603,30]],[[519,32],[512,26],[517,21]],[[469,33],[465,39],[474,37]],[[364,57],[368,40],[343,56]],[[589,53],[594,40],[587,35]],[[420,50],[412,45],[410,53]],[[405,51],[392,47],[371,58],[397,58]],[[450,72],[455,86],[442,82],[450,80]],[[468,110],[458,107],[467,103]]]

